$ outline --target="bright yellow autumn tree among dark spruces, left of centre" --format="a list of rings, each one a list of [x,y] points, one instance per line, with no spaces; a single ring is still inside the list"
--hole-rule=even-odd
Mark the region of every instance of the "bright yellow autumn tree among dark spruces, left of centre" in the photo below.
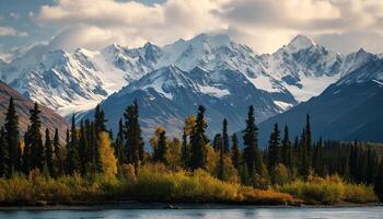
[[[98,135],[100,158],[105,175],[114,176],[117,174],[117,159],[112,148],[109,134],[102,131]]]

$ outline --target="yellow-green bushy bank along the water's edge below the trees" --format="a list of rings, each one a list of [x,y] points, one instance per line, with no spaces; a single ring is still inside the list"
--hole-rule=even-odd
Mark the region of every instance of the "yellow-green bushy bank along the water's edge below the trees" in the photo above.
[[[147,165],[135,174],[126,166],[120,177],[45,177],[38,172],[28,177],[0,180],[1,205],[95,204],[101,201],[139,200],[163,203],[227,203],[254,205],[327,204],[339,201],[376,201],[371,187],[352,185],[334,177],[315,178],[269,189],[257,189],[212,177],[205,171],[172,172],[161,165]]]

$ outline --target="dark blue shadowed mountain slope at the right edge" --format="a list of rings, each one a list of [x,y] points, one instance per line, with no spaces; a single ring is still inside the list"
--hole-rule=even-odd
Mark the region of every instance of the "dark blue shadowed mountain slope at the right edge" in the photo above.
[[[290,134],[299,136],[305,115],[311,115],[313,137],[337,140],[383,141],[383,60],[359,50],[349,58],[368,62],[329,85],[318,96],[278,114],[259,125],[259,141],[267,145],[272,125],[289,124]]]

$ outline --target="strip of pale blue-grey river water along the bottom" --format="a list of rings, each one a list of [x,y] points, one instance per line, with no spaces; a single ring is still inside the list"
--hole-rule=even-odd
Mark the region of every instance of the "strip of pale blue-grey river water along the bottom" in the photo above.
[[[7,210],[0,219],[173,219],[173,218],[383,218],[383,207],[343,208],[233,208],[233,209],[107,209],[107,210]]]

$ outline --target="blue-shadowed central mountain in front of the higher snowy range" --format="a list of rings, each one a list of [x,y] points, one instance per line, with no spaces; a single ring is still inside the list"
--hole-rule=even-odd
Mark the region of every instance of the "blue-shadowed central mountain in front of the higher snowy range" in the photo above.
[[[185,117],[195,114],[199,104],[207,108],[209,134],[213,135],[220,131],[225,117],[231,131],[242,128],[249,104],[255,106],[257,119],[262,122],[286,111],[286,102],[297,103],[291,95],[285,102],[276,101],[272,94],[256,89],[236,70],[208,71],[196,67],[183,71],[171,65],[132,81],[102,102],[109,127],[115,130],[124,110],[135,99],[139,102],[146,137],[158,126],[164,127],[170,136],[181,135]],[[82,118],[92,118],[93,114],[90,111]]]

